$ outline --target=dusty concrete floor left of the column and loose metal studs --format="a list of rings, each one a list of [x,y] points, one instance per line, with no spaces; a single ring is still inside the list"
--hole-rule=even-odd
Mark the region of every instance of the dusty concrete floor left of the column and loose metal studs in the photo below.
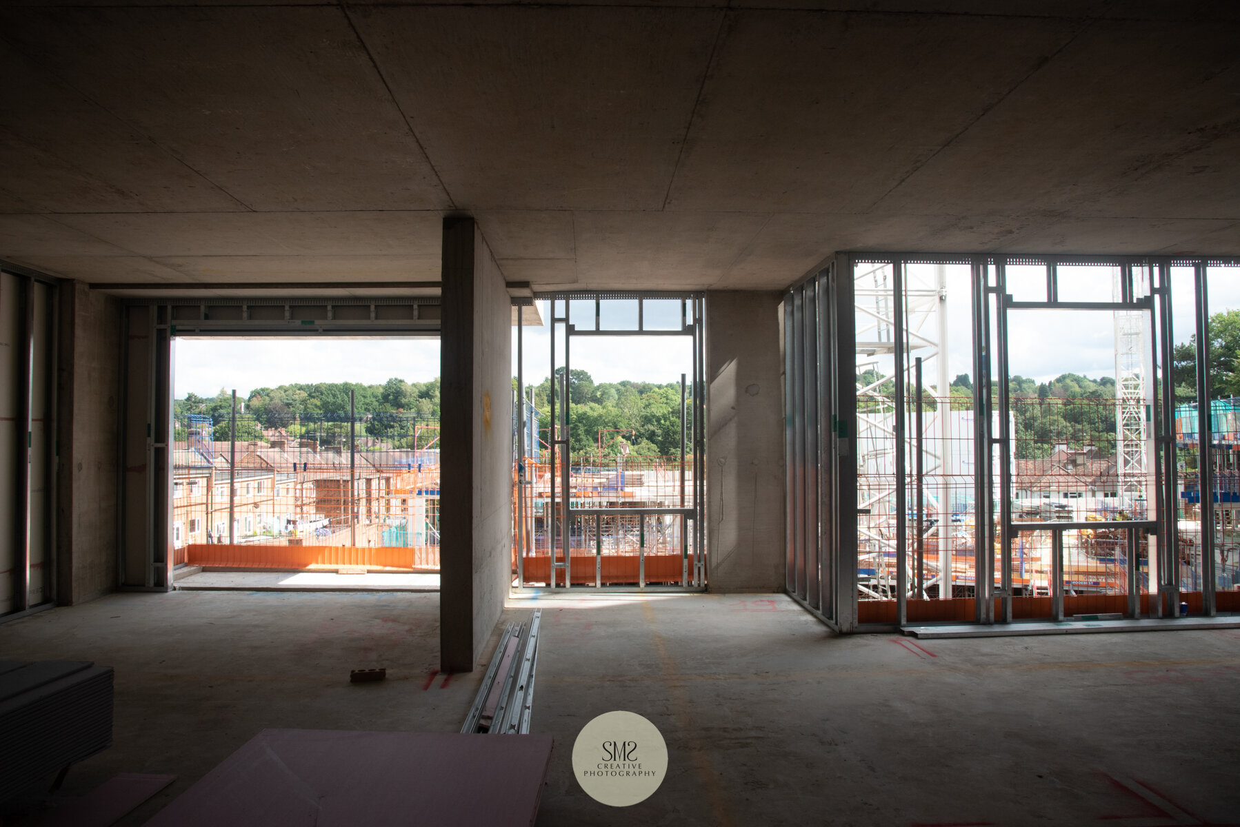
[[[408,591],[112,594],[0,626],[0,658],[115,668],[113,745],[74,765],[57,798],[117,772],[175,774],[125,826],[262,729],[458,732],[481,682],[434,674],[439,595]],[[381,666],[386,681],[348,682]]]

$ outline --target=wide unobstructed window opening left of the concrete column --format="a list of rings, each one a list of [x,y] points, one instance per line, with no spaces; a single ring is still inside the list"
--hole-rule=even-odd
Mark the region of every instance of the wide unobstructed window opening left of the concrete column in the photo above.
[[[438,338],[174,353],[174,564],[439,570]]]

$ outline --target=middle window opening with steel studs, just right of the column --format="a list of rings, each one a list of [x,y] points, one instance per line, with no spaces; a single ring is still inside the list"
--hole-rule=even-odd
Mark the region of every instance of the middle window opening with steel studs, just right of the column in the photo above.
[[[704,585],[702,301],[553,294],[516,331],[517,588]]]

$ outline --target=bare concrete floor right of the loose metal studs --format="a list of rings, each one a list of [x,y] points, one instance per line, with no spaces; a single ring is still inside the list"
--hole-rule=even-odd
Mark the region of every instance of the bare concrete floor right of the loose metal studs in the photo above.
[[[538,825],[1240,823],[1240,632],[835,637],[784,595],[515,599],[543,609]],[[572,743],[653,722],[670,763],[624,810]]]

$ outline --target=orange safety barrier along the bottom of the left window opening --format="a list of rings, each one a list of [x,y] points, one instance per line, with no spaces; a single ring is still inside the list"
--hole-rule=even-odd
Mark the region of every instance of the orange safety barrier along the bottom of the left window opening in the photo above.
[[[366,568],[373,572],[438,572],[439,548],[191,543],[185,547],[185,562],[190,565],[221,569]]]

